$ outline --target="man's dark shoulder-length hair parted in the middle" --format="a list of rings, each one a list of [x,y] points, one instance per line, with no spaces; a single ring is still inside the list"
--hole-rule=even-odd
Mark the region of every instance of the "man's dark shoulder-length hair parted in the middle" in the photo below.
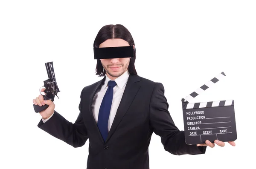
[[[105,40],[108,40],[108,39],[115,39],[115,38],[120,38],[120,39],[123,39],[125,40],[126,42],[129,43],[130,46],[133,46],[134,45],[134,40],[131,36],[131,33],[128,31],[128,29],[125,28],[125,26],[122,26],[120,24],[116,24],[116,25],[106,25],[106,26],[103,26],[95,40],[94,40],[94,43],[93,43],[93,48],[99,48],[99,45],[103,42],[105,42]],[[137,72],[136,72],[136,69],[135,69],[135,59],[136,59],[136,48],[135,48],[135,45],[134,45],[134,57],[131,57],[130,59],[130,63],[129,63],[129,66],[128,66],[128,72],[130,74],[136,74],[137,75]],[[96,65],[96,75],[99,75],[99,77],[101,76],[105,76],[106,74],[106,71],[105,69],[103,68],[102,66],[102,63],[99,59],[97,59],[97,65]]]

